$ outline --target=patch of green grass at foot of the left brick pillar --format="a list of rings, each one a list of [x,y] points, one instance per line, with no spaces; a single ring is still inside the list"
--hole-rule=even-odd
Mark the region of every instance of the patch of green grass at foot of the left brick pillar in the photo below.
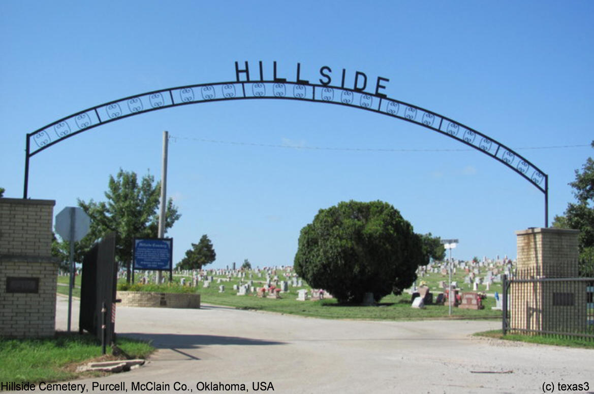
[[[154,348],[147,342],[118,337],[118,347],[136,358]],[[100,357],[101,345],[90,334],[58,332],[53,338],[0,338],[0,382],[57,382],[81,376],[72,364]]]

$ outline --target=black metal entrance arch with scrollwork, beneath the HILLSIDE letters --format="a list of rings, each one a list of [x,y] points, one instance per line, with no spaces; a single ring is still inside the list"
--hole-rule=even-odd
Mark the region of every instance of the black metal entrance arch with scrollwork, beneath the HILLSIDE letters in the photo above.
[[[23,198],[27,198],[30,158],[44,149],[93,127],[163,108],[200,102],[281,99],[345,105],[418,124],[462,142],[513,169],[545,196],[548,227],[548,175],[514,150],[462,123],[407,102],[362,89],[310,84],[308,81],[238,81],[187,85],[146,92],[87,108],[27,133]]]

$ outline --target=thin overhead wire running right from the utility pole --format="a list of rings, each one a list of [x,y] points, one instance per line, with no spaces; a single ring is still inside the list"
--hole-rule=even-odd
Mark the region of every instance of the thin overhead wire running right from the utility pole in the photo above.
[[[334,148],[331,146],[305,146],[305,145],[287,145],[287,144],[268,144],[268,143],[257,143],[257,142],[238,142],[238,141],[223,141],[213,140],[205,138],[194,138],[194,137],[179,137],[169,136],[173,142],[181,140],[192,140],[197,142],[207,143],[219,143],[223,145],[239,145],[239,146],[260,146],[264,148],[284,148],[284,149],[304,149],[304,150],[347,150],[355,152],[469,152],[476,149],[406,149],[406,148]],[[525,146],[522,148],[513,148],[514,150],[522,149],[567,149],[567,148],[583,148],[584,146],[590,145],[557,145],[557,146]]]

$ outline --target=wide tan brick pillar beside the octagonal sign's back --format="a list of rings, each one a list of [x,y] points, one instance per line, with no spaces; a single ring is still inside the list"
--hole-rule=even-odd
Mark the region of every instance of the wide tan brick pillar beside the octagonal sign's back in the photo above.
[[[0,198],[0,336],[55,334],[52,200]]]

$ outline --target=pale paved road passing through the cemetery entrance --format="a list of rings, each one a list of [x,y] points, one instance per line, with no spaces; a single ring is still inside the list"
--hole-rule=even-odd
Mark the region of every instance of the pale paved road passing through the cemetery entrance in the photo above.
[[[77,303],[73,309],[78,327]],[[58,297],[57,310],[56,327],[65,329],[67,300]],[[75,383],[90,393],[99,392],[92,382],[125,381],[128,392],[132,382],[169,384],[162,392],[175,392],[179,382],[192,393],[225,392],[199,382],[244,384],[248,392],[255,391],[253,382],[266,382],[283,394],[441,394],[542,393],[545,382],[564,392],[558,383],[587,382],[594,392],[594,351],[470,337],[499,326],[331,321],[216,306],[119,307],[116,332],[150,339],[159,350],[140,369]]]

